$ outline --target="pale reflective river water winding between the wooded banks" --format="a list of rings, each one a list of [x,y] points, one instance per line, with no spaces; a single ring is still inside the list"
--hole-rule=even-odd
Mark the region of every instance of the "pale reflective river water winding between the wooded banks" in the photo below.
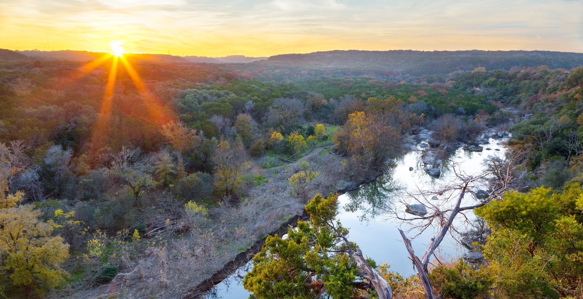
[[[380,212],[383,207],[392,204],[397,194],[402,191],[431,190],[436,184],[445,184],[455,178],[452,165],[462,170],[467,175],[475,175],[484,170],[483,162],[489,155],[503,156],[505,148],[498,144],[503,140],[489,139],[489,144],[482,145],[484,151],[470,152],[463,148],[456,149],[448,161],[441,168],[441,176],[431,177],[424,172],[422,151],[410,151],[394,162],[394,165],[372,183],[361,185],[353,191],[339,196],[338,219],[344,227],[350,229],[348,239],[359,245],[368,257],[373,258],[377,264],[387,262],[391,270],[401,273],[403,276],[415,274],[409,254],[403,244],[398,227],[405,230],[408,225],[402,222],[387,219],[387,215]],[[490,148],[491,150],[486,150]],[[413,167],[413,170],[409,170]],[[467,201],[473,201],[471,195],[466,195]],[[472,214],[473,215],[473,214]],[[407,233],[412,237],[415,232]],[[422,255],[426,250],[433,232],[425,232],[412,241],[416,254]],[[449,261],[459,258],[466,252],[455,239],[448,237],[441,243],[436,255],[440,259]],[[244,289],[241,280],[247,270],[251,268],[251,262],[236,270],[235,273],[224,279],[209,291],[208,298],[234,298],[247,299],[250,293]]]

